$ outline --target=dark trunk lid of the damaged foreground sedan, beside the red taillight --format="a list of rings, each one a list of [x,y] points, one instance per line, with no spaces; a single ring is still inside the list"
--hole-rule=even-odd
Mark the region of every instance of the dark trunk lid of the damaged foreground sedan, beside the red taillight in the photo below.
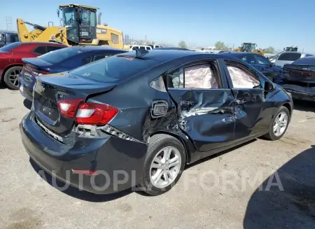
[[[74,118],[62,116],[58,101],[63,99],[83,99],[113,89],[115,83],[93,81],[89,78],[51,74],[36,79],[34,88],[35,118],[56,134],[65,135],[71,131]]]

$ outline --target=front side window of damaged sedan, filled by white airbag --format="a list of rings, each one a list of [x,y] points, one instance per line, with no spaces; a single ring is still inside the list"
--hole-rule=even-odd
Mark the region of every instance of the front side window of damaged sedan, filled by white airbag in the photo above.
[[[233,88],[256,88],[260,85],[258,75],[240,64],[227,64]]]

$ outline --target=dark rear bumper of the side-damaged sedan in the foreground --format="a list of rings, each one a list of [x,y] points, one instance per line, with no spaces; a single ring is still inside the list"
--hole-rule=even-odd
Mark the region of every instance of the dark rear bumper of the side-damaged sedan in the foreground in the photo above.
[[[39,167],[80,190],[115,193],[137,185],[142,176],[146,144],[110,135],[98,139],[76,136],[71,144],[62,144],[34,123],[31,113],[20,123],[20,132],[27,153]]]

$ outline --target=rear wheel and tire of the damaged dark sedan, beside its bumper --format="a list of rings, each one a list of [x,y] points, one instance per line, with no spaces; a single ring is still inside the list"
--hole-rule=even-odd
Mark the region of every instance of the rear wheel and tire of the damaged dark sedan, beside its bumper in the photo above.
[[[181,177],[186,164],[186,153],[181,141],[167,134],[156,134],[150,139],[144,174],[139,187],[149,195],[169,191]]]

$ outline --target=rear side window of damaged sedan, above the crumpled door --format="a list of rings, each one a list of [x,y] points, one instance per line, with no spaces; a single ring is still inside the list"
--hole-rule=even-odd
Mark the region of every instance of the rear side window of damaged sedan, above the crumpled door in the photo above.
[[[169,88],[221,88],[221,81],[212,64],[195,64],[179,68],[168,74],[167,86]]]

